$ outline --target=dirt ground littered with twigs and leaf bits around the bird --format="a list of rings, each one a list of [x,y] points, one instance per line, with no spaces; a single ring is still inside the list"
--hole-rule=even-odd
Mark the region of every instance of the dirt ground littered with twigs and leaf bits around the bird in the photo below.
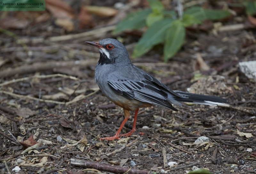
[[[18,14],[24,12],[7,16],[18,18]],[[116,38],[108,30],[97,33],[106,26],[100,26],[104,18],[94,18],[100,24],[65,33],[95,31],[75,39],[54,41],[54,36],[64,34],[53,17],[8,29],[19,38],[0,33],[1,174],[16,173],[15,166],[21,174],[127,170],[184,174],[196,168],[212,174],[256,173],[256,85],[238,67],[239,62],[256,60],[255,29],[217,34],[188,29],[186,43],[167,64],[163,63],[162,45],[132,59],[172,90],[190,88],[227,98],[231,104],[183,103],[175,106],[179,112],[157,106],[141,108],[131,137],[101,141],[100,137],[116,133],[124,113],[102,95],[94,81],[98,49],[84,42]],[[131,55],[139,37],[131,33],[119,37]],[[133,114],[124,133],[132,128]],[[201,136],[209,139],[194,143]]]

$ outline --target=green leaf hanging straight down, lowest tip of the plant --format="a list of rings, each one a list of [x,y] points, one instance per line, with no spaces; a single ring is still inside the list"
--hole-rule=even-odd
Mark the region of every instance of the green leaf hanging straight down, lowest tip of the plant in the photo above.
[[[180,20],[175,20],[166,31],[164,42],[164,62],[167,62],[180,49],[185,39],[185,27]]]

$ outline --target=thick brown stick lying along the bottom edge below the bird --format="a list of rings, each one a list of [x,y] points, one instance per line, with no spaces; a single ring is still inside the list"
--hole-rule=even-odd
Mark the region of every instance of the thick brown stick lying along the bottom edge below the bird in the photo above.
[[[150,173],[150,171],[147,171],[147,170],[124,168],[124,167],[120,167],[120,166],[111,166],[111,165],[107,165],[107,164],[96,163],[93,161],[85,161],[85,160],[80,160],[80,159],[76,159],[76,158],[71,158],[70,164],[82,166],[85,168],[109,171],[112,173],[125,173],[128,170],[129,171],[126,174],[149,174]]]

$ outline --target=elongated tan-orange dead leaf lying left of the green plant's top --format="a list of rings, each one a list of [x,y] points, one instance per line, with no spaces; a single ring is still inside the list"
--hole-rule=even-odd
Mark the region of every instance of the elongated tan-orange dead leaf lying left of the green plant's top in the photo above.
[[[95,14],[102,17],[111,17],[111,16],[115,16],[118,13],[118,10],[111,7],[104,7],[104,6],[86,5],[86,6],[83,6],[82,8],[86,9],[91,14]]]

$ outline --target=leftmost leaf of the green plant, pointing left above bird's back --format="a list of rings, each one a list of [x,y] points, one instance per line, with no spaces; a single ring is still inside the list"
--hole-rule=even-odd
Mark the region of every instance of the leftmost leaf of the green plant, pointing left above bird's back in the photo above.
[[[113,33],[118,34],[127,29],[136,30],[146,26],[147,16],[151,12],[151,9],[145,9],[128,14],[126,18],[118,23]]]

